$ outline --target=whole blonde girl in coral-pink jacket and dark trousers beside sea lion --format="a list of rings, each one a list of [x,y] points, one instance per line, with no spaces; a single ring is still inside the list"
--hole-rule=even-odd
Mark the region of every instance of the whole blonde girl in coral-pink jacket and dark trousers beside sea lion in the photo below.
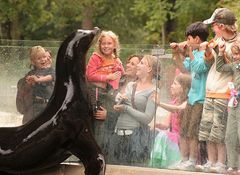
[[[124,74],[122,62],[118,58],[118,36],[112,31],[102,31],[95,52],[89,59],[86,68],[86,78],[89,82],[89,97],[94,112],[93,133],[104,154],[106,150],[107,127],[111,125],[111,109],[115,104],[112,90],[118,89],[119,80]],[[106,108],[107,110],[105,110]],[[99,118],[96,113],[101,111],[105,118]],[[104,122],[103,122],[104,121]]]

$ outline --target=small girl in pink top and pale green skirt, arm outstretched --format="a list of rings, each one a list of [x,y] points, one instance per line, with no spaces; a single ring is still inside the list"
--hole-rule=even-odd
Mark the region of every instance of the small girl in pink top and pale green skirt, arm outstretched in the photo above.
[[[155,125],[158,133],[155,137],[154,147],[151,153],[150,165],[157,168],[172,168],[181,159],[179,149],[179,122],[181,122],[182,111],[187,104],[187,94],[191,84],[191,77],[179,74],[171,85],[173,100],[170,104],[160,102],[158,96],[153,100],[159,107],[170,113],[166,120]]]

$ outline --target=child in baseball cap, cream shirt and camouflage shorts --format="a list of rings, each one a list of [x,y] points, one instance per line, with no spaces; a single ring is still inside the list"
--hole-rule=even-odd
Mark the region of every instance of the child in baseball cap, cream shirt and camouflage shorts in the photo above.
[[[236,40],[240,40],[236,21],[235,14],[227,8],[216,9],[209,19],[203,21],[211,25],[215,33],[213,41],[216,44],[213,46],[215,48],[211,48],[208,44],[205,51],[205,60],[212,66],[206,82],[199,141],[207,142],[208,161],[204,165],[197,165],[197,171],[226,173],[225,133],[226,143],[228,143],[227,104],[230,98],[228,82],[231,82],[233,77],[230,72],[217,72],[216,58],[224,56],[225,63],[231,62],[231,45]],[[224,53],[220,53],[219,48],[224,48]]]

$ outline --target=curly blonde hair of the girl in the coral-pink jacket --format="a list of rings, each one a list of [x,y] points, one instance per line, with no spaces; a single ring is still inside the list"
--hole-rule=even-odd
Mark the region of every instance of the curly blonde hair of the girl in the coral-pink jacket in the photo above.
[[[119,51],[120,51],[120,45],[119,45],[119,40],[118,40],[118,36],[113,33],[112,31],[102,31],[99,38],[98,38],[98,41],[97,41],[97,44],[96,44],[96,51],[98,53],[101,53],[101,50],[100,50],[100,44],[102,42],[102,39],[106,36],[109,36],[113,39],[114,41],[114,44],[115,44],[115,49],[114,49],[114,56],[115,58],[118,58],[119,57]]]

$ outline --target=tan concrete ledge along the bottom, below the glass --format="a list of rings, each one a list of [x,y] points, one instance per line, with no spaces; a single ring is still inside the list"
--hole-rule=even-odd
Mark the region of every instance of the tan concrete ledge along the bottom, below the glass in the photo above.
[[[35,175],[84,175],[82,165],[62,164],[60,167]],[[107,165],[106,175],[214,175],[213,173],[187,172],[156,168]]]

